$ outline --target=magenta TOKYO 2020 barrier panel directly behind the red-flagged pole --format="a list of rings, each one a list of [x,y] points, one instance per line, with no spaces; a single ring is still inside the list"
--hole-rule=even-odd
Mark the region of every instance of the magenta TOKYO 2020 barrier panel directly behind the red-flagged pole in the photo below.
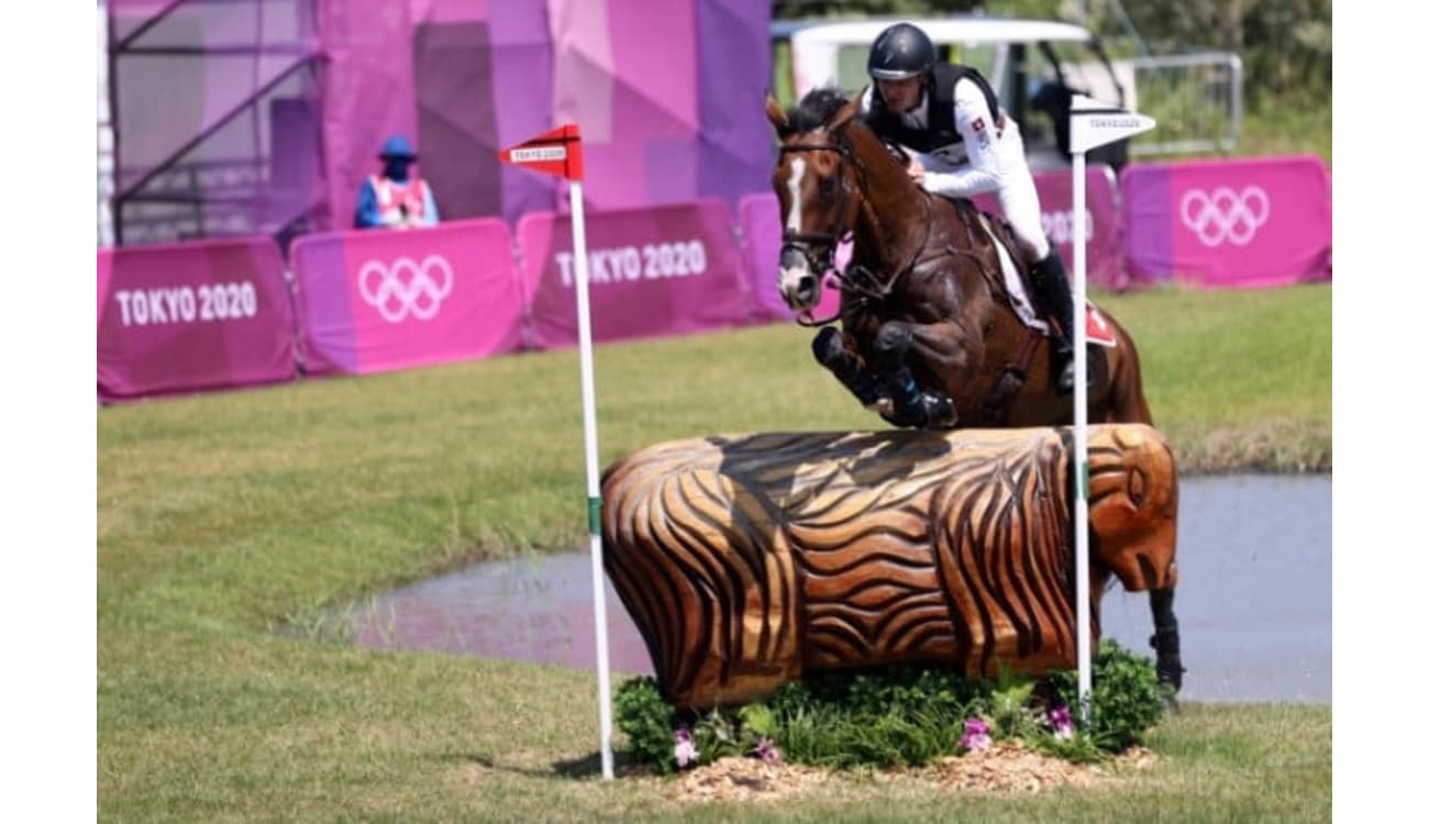
[[[516,226],[532,331],[544,348],[576,346],[570,217]],[[729,207],[700,200],[586,216],[590,330],[596,341],[687,334],[750,323]]]

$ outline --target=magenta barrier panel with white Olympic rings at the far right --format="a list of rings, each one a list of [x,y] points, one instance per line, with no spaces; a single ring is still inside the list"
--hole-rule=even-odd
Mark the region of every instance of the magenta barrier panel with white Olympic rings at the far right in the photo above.
[[[1330,179],[1316,156],[1129,166],[1122,208],[1133,277],[1232,288],[1330,278]]]

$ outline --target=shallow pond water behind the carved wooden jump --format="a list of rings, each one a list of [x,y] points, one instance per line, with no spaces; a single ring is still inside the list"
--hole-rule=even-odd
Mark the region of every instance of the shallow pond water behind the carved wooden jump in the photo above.
[[[1330,701],[1330,476],[1183,478],[1177,563],[1182,697]],[[594,668],[587,551],[476,564],[353,611],[354,640]],[[652,673],[606,583],[610,667]],[[1103,633],[1152,653],[1146,596],[1109,591]]]

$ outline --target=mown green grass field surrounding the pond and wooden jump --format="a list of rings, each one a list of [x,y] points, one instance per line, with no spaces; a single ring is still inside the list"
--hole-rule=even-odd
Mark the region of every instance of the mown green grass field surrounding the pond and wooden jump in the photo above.
[[[1330,468],[1330,287],[1102,296],[1183,471]],[[769,326],[596,353],[602,463],[653,441],[882,428]],[[1115,790],[949,797],[850,775],[682,810],[603,783],[594,677],[356,650],[294,620],[473,560],[582,546],[574,351],[99,411],[104,820],[1322,820],[1328,707],[1199,707]],[[896,813],[893,813],[896,811]]]

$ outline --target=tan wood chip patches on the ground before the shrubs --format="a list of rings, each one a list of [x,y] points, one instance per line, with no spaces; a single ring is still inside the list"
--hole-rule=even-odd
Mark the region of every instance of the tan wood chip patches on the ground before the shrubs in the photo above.
[[[1100,764],[1072,764],[1019,743],[995,743],[977,753],[942,758],[926,767],[883,770],[893,780],[930,784],[949,793],[1040,793],[1053,787],[1095,787],[1126,770],[1156,763],[1135,747]],[[766,801],[845,781],[837,770],[805,764],[769,764],[757,758],[720,758],[674,777],[670,797],[704,801]]]

